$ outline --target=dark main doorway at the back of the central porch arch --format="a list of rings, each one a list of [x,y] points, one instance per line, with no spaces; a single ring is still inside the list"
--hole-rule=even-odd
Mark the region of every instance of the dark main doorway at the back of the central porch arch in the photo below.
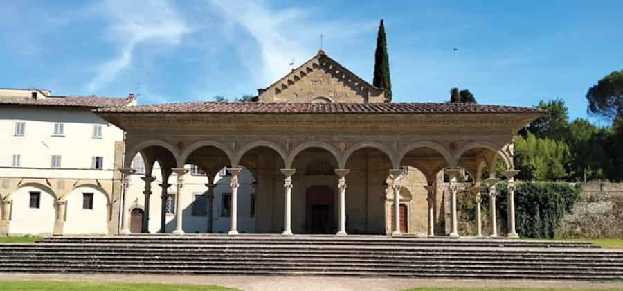
[[[328,186],[311,186],[306,195],[305,232],[334,233],[333,190]]]

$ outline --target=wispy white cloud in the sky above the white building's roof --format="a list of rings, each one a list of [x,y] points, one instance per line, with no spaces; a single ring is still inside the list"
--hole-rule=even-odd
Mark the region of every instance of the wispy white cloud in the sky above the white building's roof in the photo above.
[[[186,21],[167,0],[105,0],[93,6],[93,12],[105,16],[108,22],[105,37],[118,45],[119,51],[116,57],[96,67],[97,75],[87,85],[89,91],[109,84],[129,67],[136,46],[147,43],[177,46],[181,37],[190,33]]]

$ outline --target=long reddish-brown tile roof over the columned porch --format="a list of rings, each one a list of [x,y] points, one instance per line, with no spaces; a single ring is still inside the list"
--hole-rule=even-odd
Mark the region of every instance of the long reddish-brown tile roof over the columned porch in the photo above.
[[[532,107],[468,103],[168,103],[97,109],[127,113],[246,113],[246,114],[422,114],[422,113],[529,113]]]

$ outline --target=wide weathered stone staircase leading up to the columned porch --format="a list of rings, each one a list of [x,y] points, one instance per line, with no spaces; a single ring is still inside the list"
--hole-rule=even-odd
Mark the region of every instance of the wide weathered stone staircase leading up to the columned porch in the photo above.
[[[62,236],[0,244],[0,272],[623,279],[590,243],[386,236]]]

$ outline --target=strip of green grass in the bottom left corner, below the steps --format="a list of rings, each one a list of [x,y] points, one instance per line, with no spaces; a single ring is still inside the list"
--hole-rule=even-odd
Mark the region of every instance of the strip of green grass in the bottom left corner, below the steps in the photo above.
[[[235,290],[214,285],[169,285],[169,284],[137,284],[137,283],[90,283],[90,282],[59,282],[59,281],[0,281],[0,290]]]

